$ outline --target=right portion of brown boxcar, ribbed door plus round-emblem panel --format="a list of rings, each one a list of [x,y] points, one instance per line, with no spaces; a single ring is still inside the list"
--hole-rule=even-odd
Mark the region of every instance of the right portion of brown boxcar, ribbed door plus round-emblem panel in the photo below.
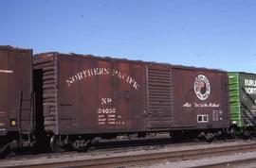
[[[146,69],[150,127],[229,127],[227,72],[162,64]]]

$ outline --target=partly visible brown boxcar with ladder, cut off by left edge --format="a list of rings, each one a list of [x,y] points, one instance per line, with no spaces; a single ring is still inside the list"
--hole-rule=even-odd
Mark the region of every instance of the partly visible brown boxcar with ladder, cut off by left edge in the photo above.
[[[9,146],[32,145],[30,134],[34,123],[31,59],[30,49],[0,46],[1,152]]]

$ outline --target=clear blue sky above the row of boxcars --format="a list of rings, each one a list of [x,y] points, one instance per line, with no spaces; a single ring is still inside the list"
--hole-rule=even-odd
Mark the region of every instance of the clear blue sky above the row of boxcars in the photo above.
[[[2,0],[0,44],[256,73],[255,0]]]

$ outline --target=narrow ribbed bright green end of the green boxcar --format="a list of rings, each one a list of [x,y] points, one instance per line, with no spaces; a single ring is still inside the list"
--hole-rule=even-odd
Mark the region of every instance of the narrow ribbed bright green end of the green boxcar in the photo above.
[[[242,126],[241,108],[240,108],[240,86],[239,74],[228,73],[229,75],[229,110],[230,124]]]

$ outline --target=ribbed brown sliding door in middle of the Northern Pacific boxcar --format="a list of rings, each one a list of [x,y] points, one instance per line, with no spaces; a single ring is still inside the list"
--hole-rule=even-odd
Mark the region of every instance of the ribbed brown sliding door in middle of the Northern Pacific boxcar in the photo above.
[[[148,68],[150,127],[169,127],[172,114],[172,74],[170,69]]]

